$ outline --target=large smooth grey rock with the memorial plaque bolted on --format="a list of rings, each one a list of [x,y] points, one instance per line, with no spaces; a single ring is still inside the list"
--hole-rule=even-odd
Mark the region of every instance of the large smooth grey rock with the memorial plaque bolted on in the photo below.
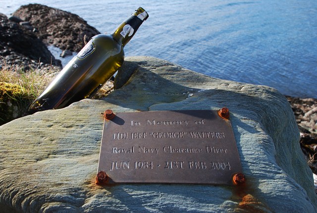
[[[83,100],[0,127],[1,210],[317,212],[313,174],[283,95],[152,57],[128,57],[124,63],[134,74],[103,100]],[[230,109],[245,186],[95,184],[105,109],[216,110],[223,106]]]

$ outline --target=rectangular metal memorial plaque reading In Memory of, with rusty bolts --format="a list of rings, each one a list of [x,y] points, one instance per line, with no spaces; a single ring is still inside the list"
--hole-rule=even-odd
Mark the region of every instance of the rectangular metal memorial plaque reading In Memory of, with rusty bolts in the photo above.
[[[215,110],[115,114],[105,119],[98,165],[108,183],[233,185],[242,172],[230,120]]]

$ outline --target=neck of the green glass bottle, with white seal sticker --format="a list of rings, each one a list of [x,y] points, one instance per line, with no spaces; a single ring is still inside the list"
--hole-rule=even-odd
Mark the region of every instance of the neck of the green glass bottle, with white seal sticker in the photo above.
[[[140,7],[141,8],[141,7]],[[140,13],[139,9],[136,10],[127,20],[122,22],[112,33],[112,37],[123,46],[125,46],[134,36],[144,20],[148,18],[148,13]]]

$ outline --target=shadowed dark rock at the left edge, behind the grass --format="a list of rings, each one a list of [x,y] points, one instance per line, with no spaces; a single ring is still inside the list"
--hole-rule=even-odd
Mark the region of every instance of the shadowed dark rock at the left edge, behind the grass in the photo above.
[[[11,19],[18,20],[18,19]],[[21,22],[20,22],[21,23]],[[18,64],[24,70],[38,66],[60,66],[46,45],[33,32],[31,24],[10,21],[0,14],[0,68]]]

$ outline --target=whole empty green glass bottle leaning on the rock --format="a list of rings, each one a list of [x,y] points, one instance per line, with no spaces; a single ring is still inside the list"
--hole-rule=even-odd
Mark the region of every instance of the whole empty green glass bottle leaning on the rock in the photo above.
[[[96,94],[122,65],[124,46],[148,17],[139,7],[113,33],[91,38],[33,102],[29,113],[63,108]]]

